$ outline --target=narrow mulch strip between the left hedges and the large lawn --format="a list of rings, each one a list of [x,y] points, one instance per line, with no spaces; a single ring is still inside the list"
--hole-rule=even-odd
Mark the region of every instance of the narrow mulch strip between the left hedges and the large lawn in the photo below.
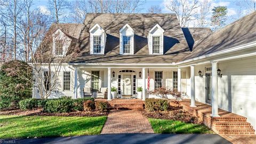
[[[69,113],[45,113],[43,108],[33,109],[33,110],[20,110],[20,109],[10,109],[0,111],[0,115],[17,115],[17,116],[107,116],[109,111],[73,111]]]

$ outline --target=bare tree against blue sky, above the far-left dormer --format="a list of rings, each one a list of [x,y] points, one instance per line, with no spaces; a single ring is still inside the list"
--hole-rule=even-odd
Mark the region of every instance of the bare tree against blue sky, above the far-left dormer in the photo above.
[[[69,2],[66,0],[49,0],[48,1],[48,7],[51,11],[51,14],[54,15],[55,23],[60,22],[60,18],[62,15],[67,13],[66,10],[69,9]]]

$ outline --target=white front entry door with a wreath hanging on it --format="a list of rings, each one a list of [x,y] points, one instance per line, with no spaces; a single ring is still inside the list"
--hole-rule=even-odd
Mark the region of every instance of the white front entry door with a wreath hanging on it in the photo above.
[[[132,95],[132,75],[123,75],[123,95]]]

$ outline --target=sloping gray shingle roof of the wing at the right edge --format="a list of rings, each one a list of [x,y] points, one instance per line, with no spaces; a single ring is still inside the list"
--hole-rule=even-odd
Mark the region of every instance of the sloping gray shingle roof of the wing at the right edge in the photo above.
[[[256,12],[253,12],[197,41],[193,51],[182,60],[200,57],[255,41]]]

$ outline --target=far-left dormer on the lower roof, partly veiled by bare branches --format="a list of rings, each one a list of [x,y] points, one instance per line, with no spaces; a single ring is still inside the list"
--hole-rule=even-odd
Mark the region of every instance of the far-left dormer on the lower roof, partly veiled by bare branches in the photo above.
[[[56,30],[52,34],[52,38],[53,38],[53,55],[55,57],[65,56],[68,51],[68,47],[71,44],[72,39],[69,38],[60,29]]]

